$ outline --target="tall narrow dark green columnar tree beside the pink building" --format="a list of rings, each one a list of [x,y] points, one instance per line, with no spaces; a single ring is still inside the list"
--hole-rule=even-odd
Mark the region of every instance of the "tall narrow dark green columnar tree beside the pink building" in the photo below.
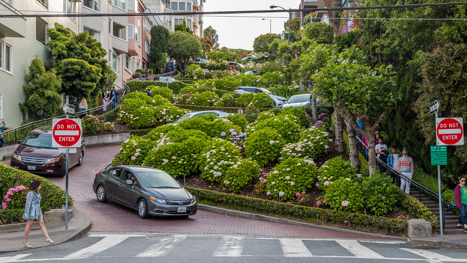
[[[170,32],[167,28],[156,25],[151,28],[151,44],[149,47],[149,68],[154,73],[167,64]]]

